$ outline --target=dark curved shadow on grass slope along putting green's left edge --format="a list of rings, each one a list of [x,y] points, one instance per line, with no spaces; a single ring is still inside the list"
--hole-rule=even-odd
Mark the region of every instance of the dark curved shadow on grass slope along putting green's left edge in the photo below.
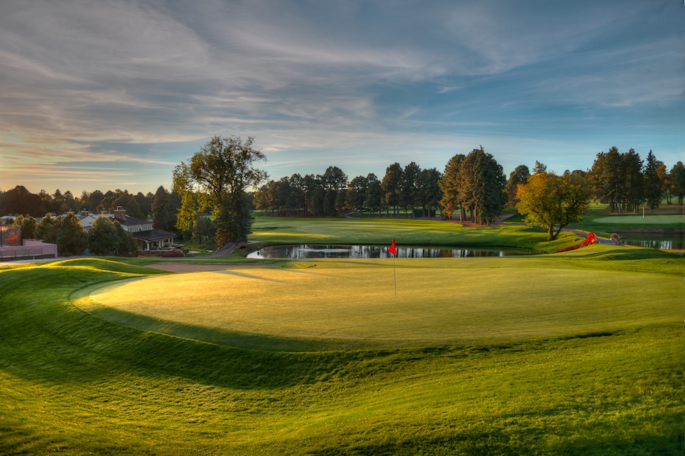
[[[177,328],[186,338],[119,326],[84,312],[69,299],[79,288],[123,278],[101,270],[21,268],[0,274],[0,366],[34,381],[99,382],[103,377],[133,374],[183,377],[235,389],[272,389],[321,381],[369,355],[354,350],[274,351],[279,346],[305,348],[307,342],[215,334],[269,348],[247,350],[187,338],[201,331],[192,326]]]

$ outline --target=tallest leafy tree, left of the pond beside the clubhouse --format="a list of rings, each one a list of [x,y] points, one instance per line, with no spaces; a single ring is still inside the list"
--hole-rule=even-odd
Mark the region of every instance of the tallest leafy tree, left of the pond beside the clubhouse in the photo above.
[[[193,226],[197,212],[211,207],[216,220],[215,240],[224,246],[250,234],[252,215],[247,188],[257,188],[267,173],[255,167],[266,156],[252,148],[254,138],[213,137],[189,163],[174,170],[174,191],[182,195],[179,227]],[[183,213],[183,217],[181,217]]]

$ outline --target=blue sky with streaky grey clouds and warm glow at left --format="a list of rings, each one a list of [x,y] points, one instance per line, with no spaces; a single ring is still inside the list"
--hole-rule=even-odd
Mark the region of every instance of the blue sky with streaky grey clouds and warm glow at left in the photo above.
[[[484,147],[685,161],[683,0],[1,0],[0,190],[152,192],[213,136],[278,180]]]

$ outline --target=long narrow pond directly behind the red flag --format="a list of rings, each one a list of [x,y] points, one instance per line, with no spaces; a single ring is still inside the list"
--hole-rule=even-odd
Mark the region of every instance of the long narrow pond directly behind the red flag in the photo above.
[[[465,258],[469,256],[531,255],[537,252],[528,249],[497,247],[397,247],[397,258]],[[269,246],[247,255],[247,258],[392,258],[388,246],[344,246],[302,244],[296,246]]]

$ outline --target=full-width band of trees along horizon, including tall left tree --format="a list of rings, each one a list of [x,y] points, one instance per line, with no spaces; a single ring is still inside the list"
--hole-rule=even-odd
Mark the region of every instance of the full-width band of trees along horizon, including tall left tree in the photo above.
[[[420,207],[424,216],[439,211],[442,217],[452,217],[456,212],[462,221],[468,214],[473,222],[490,224],[508,206],[518,208],[529,223],[549,229],[553,239],[558,232],[550,227],[577,220],[591,198],[608,203],[612,212],[622,212],[643,204],[654,209],[664,198],[667,204],[674,199],[682,204],[685,196],[682,162],[669,170],[652,151],[643,161],[634,149],[620,153],[612,147],[597,154],[591,169],[560,176],[536,162],[533,173],[520,165],[507,179],[494,156],[479,147],[452,156],[442,172],[421,169],[412,161],[389,165],[382,178],[368,173],[350,180],[342,169],[328,166],[323,174],[295,173],[267,181],[267,173],[256,166],[265,156],[252,147],[253,141],[213,137],[174,169],[170,192],[160,186],[155,194],[96,190],[74,198],[60,190],[33,195],[17,186],[0,192],[0,212],[113,212],[123,206],[128,215],[151,218],[155,228],[182,233],[186,239],[213,238],[223,246],[251,232],[255,208],[274,216],[340,217],[357,212],[377,217]]]

